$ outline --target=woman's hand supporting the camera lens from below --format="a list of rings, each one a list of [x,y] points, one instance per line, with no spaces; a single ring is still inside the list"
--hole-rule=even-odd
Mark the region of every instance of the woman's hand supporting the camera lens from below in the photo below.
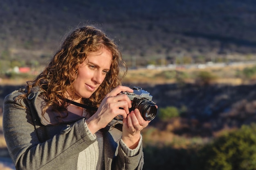
[[[144,120],[139,109],[131,111],[127,118],[123,119],[123,135],[122,140],[130,149],[137,147],[140,139],[140,132],[150,121]]]

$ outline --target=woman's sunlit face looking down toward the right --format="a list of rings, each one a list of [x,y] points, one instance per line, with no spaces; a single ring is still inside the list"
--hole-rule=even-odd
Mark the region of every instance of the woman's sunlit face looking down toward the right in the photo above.
[[[110,70],[111,61],[112,54],[106,48],[88,54],[79,65],[78,77],[74,82],[75,100],[89,98],[98,89]]]

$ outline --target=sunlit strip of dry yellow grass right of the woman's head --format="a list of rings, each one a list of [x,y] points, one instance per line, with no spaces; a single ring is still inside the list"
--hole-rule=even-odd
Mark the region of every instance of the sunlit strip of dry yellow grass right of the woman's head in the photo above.
[[[244,66],[226,66],[221,68],[204,68],[204,69],[138,69],[138,70],[128,70],[126,77],[124,78],[124,83],[130,84],[166,84],[175,83],[175,75],[172,78],[166,78],[164,76],[159,76],[163,72],[183,72],[187,75],[184,78],[186,83],[195,83],[195,75],[198,72],[206,71],[216,76],[214,83],[220,84],[230,84],[230,85],[240,85],[243,83],[241,78],[237,77],[237,71],[243,70],[245,67],[252,67],[254,65],[244,65]]]

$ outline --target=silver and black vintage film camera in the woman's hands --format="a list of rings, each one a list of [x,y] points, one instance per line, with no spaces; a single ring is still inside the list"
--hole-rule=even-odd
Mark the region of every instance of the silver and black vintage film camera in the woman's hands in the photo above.
[[[139,109],[141,116],[144,120],[153,120],[157,114],[157,107],[155,102],[152,101],[153,96],[149,92],[143,90],[141,87],[133,87],[133,93],[122,92],[126,94],[132,101],[130,111]]]

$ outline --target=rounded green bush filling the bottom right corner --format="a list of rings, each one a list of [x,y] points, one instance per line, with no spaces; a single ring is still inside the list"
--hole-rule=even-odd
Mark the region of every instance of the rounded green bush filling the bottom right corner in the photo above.
[[[227,133],[199,152],[201,169],[255,170],[256,124]]]

